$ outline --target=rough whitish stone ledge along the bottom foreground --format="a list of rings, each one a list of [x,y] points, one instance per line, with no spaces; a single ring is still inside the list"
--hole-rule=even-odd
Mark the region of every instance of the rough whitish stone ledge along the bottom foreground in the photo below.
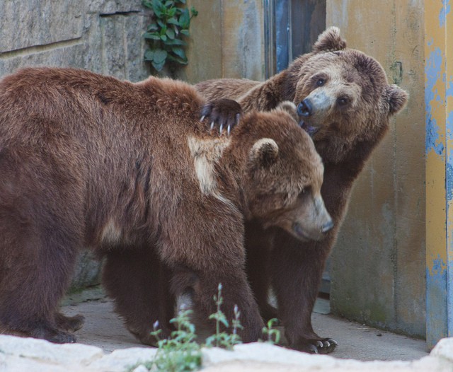
[[[105,354],[84,344],[51,344],[40,339],[0,335],[0,372],[146,372],[156,349],[134,347]],[[203,349],[205,372],[267,371],[453,371],[453,337],[441,339],[429,356],[416,361],[357,361],[311,355],[265,343],[241,344],[234,351]]]

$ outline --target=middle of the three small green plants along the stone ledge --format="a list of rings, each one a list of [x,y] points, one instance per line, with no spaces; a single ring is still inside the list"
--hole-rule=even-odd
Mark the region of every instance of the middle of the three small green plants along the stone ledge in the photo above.
[[[215,335],[207,337],[206,346],[224,347],[225,349],[231,350],[235,344],[241,343],[241,337],[237,333],[238,330],[243,328],[241,322],[239,321],[241,312],[235,305],[234,319],[231,320],[233,333],[229,334],[227,332],[220,332],[221,325],[229,327],[229,322],[226,320],[226,316],[221,310],[222,303],[224,302],[224,299],[222,298],[222,284],[219,284],[217,296],[214,295],[214,301],[217,305],[217,311],[210,315],[210,320],[215,320]]]

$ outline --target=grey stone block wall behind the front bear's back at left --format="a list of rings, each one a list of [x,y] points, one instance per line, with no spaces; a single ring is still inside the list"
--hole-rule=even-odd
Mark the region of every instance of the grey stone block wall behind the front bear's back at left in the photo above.
[[[61,66],[146,79],[147,23],[140,0],[0,0],[0,77],[25,66]],[[79,260],[72,290],[98,280],[98,262],[88,252]]]

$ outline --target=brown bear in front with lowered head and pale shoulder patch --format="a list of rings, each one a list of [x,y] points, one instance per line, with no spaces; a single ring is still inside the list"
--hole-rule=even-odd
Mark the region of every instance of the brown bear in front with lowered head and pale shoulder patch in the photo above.
[[[321,239],[332,226],[323,165],[292,103],[245,115],[230,136],[207,130],[203,105],[192,86],[154,77],[39,68],[0,81],[0,332],[74,342],[83,317],[58,303],[89,247],[144,342],[156,320],[169,332],[187,288],[207,319],[219,283],[226,315],[237,304],[243,339],[258,339],[243,223]],[[207,120],[229,117],[224,106]]]

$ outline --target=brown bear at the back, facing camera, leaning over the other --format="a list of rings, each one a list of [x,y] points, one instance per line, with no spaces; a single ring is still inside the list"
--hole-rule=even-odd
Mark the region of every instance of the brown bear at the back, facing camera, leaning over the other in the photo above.
[[[282,230],[270,239],[260,221],[248,221],[247,271],[261,314],[280,318],[292,348],[332,351],[337,343],[319,337],[311,326],[323,267],[348,208],[352,184],[389,128],[389,117],[403,109],[407,93],[389,85],[375,59],[348,49],[335,27],[319,36],[311,53],[267,81],[219,79],[196,87],[208,99],[238,100],[246,112],[272,110],[282,100],[298,105],[300,124],[313,136],[323,159],[321,193],[335,228],[322,241],[305,243]],[[278,310],[268,304],[270,284]]]

